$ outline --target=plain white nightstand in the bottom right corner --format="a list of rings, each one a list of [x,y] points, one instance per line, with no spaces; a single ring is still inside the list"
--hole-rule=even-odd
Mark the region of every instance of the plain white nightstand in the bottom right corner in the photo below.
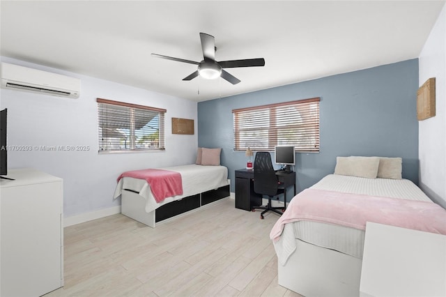
[[[367,222],[360,296],[446,296],[446,236]]]

